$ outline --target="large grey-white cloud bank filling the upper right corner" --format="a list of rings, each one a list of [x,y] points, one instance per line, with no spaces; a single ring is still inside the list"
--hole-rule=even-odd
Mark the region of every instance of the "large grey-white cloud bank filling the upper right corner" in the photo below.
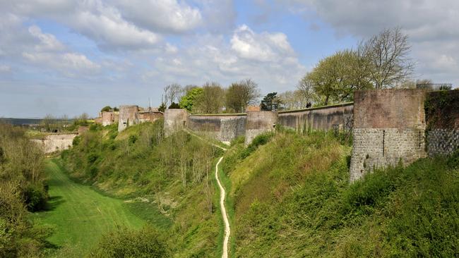
[[[410,37],[417,77],[459,85],[459,1],[278,0],[306,20],[320,19],[338,35],[366,38],[400,26]]]

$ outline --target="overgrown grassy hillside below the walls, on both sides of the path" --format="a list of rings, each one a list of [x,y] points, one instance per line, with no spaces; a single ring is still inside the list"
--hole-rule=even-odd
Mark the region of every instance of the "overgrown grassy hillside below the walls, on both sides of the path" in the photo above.
[[[93,128],[62,154],[71,177],[131,201],[174,257],[218,257],[223,226],[213,177],[222,151],[162,136],[161,121]],[[231,257],[458,254],[458,157],[422,159],[350,185],[350,149],[332,134],[278,130],[225,153]],[[142,201],[143,200],[143,201]],[[167,223],[169,221],[169,223]]]

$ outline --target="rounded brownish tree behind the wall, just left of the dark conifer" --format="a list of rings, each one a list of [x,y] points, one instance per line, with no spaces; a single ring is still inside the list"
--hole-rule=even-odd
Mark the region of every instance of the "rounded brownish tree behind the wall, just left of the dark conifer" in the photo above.
[[[260,96],[258,85],[254,80],[246,79],[232,83],[226,92],[225,103],[229,111],[244,112],[247,105],[254,104]]]

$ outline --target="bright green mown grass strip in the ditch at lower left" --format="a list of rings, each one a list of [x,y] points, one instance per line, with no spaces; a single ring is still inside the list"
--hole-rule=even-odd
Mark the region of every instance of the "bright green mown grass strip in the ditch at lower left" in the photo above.
[[[145,221],[129,211],[121,199],[101,195],[89,185],[74,183],[56,161],[47,161],[49,210],[32,214],[40,224],[55,227],[49,242],[71,246],[77,257],[88,254],[103,233],[117,226],[141,228]]]

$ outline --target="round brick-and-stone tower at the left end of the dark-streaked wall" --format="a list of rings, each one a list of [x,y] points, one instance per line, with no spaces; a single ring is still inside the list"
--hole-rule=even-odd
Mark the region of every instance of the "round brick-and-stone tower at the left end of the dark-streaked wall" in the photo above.
[[[276,123],[278,123],[278,112],[276,111],[248,111],[245,145],[249,145],[257,135],[273,132]]]

